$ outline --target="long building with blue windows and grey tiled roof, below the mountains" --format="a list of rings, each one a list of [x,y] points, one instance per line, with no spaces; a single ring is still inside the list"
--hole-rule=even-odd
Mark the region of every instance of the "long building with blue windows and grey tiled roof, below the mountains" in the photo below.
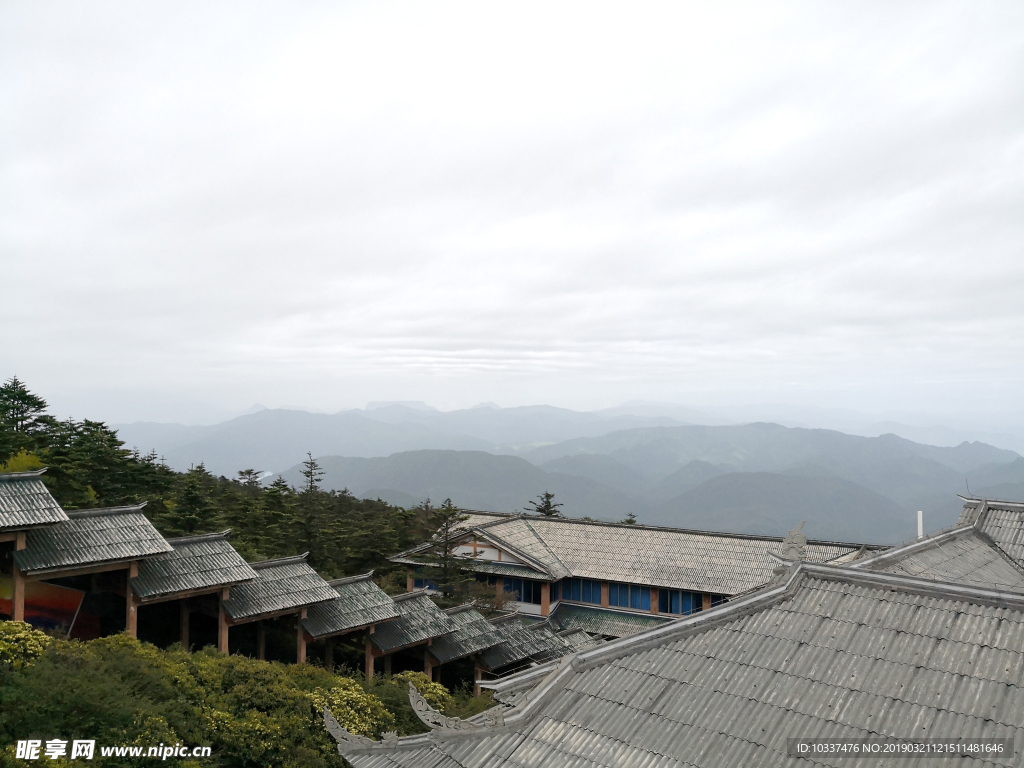
[[[765,584],[780,537],[472,512],[449,542],[465,569],[513,609],[560,630],[624,637],[707,610]],[[391,558],[408,589],[430,588],[428,542]],[[808,562],[850,562],[883,547],[808,541]]]

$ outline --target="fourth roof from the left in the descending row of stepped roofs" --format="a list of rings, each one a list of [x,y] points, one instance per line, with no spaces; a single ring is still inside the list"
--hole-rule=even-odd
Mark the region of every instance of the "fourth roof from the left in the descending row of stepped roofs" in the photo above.
[[[254,562],[256,578],[231,589],[224,610],[238,622],[333,600],[337,594],[306,563],[308,554]]]

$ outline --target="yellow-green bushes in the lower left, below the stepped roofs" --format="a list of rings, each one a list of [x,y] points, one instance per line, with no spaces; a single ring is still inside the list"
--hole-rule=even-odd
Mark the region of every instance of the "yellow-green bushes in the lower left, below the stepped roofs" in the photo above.
[[[95,738],[97,745],[210,745],[206,766],[341,766],[321,713],[377,738],[424,730],[409,705],[412,681],[449,714],[470,705],[422,673],[364,685],[303,665],[161,650],[126,635],[87,643],[52,639],[26,624],[0,623],[0,764],[17,739]],[[468,710],[466,708],[469,708]],[[98,753],[95,765],[120,765]],[[191,765],[188,761],[167,761]]]

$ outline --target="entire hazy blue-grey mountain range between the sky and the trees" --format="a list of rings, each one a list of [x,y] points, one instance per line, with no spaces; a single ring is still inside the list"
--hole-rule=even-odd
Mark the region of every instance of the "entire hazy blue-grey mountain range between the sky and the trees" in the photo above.
[[[281,471],[311,452],[326,487],[411,506],[445,498],[515,511],[550,490],[570,516],[890,543],[956,519],[956,494],[1024,497],[1024,459],[983,442],[940,447],[778,424],[695,426],[622,409],[439,412],[416,403],[312,414],[263,410],[206,427],[132,424],[123,439],[176,469]],[[674,416],[689,414],[677,410]]]

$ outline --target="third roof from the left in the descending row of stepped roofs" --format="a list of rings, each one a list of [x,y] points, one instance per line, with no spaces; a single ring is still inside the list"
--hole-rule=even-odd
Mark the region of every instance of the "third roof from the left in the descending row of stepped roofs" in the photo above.
[[[227,542],[228,532],[168,539],[173,549],[139,563],[132,591],[145,600],[252,581],[256,571]]]

